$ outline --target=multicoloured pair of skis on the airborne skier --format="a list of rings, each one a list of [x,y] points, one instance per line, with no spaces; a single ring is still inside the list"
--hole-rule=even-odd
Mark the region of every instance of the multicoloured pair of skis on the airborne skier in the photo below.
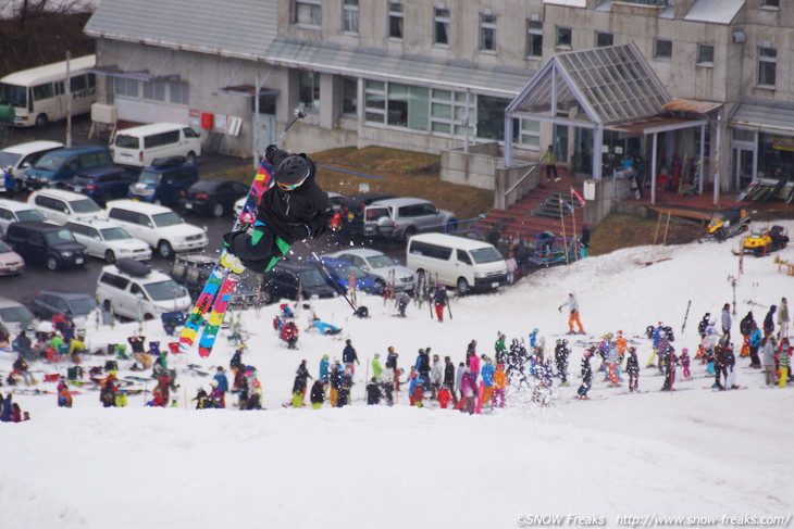
[[[278,138],[278,143],[284,140],[287,130],[298,119],[303,117],[306,117],[306,113],[302,109],[295,111],[295,117],[284,128],[284,131]],[[259,202],[264,191],[272,185],[274,173],[275,168],[271,167],[265,160],[262,160],[253,177],[253,182],[251,182],[246,203],[237,216],[232,231],[237,231],[244,226],[253,224],[257,218]],[[239,261],[234,259],[224,248],[179,335],[179,349],[182,351],[188,351],[193,347],[199,330],[201,330],[201,326],[203,326],[203,331],[199,339],[199,355],[207,357],[212,353],[212,348],[218,338],[218,331],[226,315],[228,300],[237,286],[239,274],[243,270],[244,268],[239,264]]]

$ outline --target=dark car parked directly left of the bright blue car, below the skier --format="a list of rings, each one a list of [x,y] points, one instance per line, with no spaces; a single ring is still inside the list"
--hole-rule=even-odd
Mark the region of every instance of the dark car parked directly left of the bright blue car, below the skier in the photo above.
[[[287,299],[297,300],[298,292],[303,299],[335,298],[338,290],[328,285],[325,274],[318,264],[278,261],[263,276],[262,302],[273,303]]]

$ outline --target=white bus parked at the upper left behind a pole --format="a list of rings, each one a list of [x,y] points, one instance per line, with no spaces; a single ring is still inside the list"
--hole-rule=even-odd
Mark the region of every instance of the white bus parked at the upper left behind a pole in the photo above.
[[[85,114],[97,99],[96,76],[87,71],[97,55],[70,61],[72,115]],[[23,70],[0,79],[0,104],[14,108],[17,127],[42,127],[66,117],[66,61]]]

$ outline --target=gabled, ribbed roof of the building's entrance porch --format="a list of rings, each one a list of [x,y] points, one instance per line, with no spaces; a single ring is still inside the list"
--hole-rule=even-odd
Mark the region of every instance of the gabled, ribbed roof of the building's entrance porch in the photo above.
[[[612,125],[656,115],[670,99],[630,42],[556,54],[508,110],[550,115],[553,106],[557,111],[581,108],[584,115],[571,119]]]

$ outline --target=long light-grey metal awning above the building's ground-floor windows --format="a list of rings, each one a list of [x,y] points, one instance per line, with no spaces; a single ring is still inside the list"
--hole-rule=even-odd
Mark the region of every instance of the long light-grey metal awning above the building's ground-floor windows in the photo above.
[[[485,67],[463,61],[392,54],[364,48],[277,37],[265,58],[280,66],[364,79],[398,81],[514,98],[532,79],[529,70]]]

